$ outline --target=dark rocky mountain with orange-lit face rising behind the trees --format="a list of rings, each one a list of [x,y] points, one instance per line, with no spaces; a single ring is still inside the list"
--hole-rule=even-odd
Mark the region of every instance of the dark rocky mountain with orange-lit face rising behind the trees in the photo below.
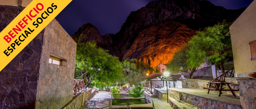
[[[206,0],[159,0],[131,12],[120,31],[101,36],[91,24],[84,24],[72,36],[76,41],[96,41],[110,54],[166,64],[176,48],[189,41],[195,30],[218,22],[235,21],[245,10],[225,9]]]

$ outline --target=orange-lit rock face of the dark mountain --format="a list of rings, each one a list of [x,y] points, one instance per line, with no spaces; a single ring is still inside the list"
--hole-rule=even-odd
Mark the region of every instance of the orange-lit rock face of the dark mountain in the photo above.
[[[126,58],[137,58],[149,62],[151,67],[167,64],[173,52],[187,43],[194,34],[196,31],[187,25],[172,20],[163,21],[141,31],[132,47],[126,51],[123,61]]]

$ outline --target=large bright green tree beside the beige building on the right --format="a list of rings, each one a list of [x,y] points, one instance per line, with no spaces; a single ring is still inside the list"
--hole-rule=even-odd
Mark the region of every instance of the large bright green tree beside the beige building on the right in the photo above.
[[[232,45],[230,36],[226,36],[229,32],[231,23],[219,23],[213,27],[204,28],[198,31],[197,35],[188,42],[190,48],[188,50],[188,60],[190,67],[197,67],[198,63],[204,63],[205,60],[211,64],[218,65],[222,73],[225,73],[223,64],[228,58],[233,59]]]

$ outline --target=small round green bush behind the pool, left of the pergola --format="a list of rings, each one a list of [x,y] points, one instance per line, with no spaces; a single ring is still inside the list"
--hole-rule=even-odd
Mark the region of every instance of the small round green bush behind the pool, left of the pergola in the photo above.
[[[138,84],[133,86],[131,90],[129,90],[130,97],[143,97],[144,96],[144,88],[142,84]]]

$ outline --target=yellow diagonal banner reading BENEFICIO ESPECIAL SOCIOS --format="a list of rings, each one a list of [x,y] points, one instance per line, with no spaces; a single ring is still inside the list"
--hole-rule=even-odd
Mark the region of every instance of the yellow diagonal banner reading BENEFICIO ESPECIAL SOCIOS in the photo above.
[[[0,70],[12,61],[72,0],[33,0],[0,33]]]

